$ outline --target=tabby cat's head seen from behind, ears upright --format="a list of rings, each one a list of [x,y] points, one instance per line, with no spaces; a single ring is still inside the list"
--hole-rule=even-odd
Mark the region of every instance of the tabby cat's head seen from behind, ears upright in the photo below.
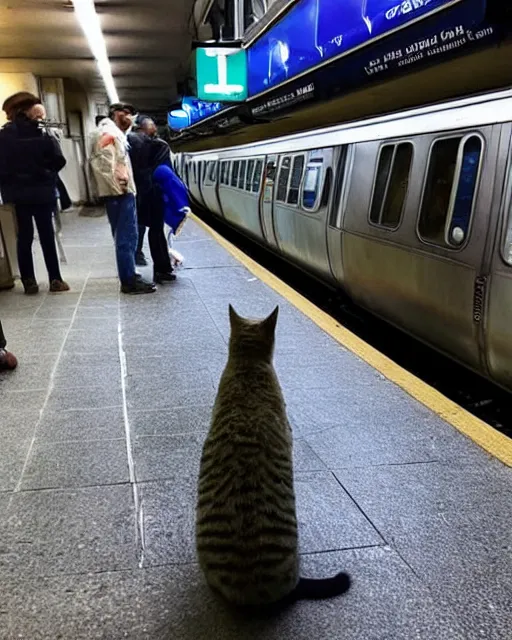
[[[279,307],[264,320],[242,318],[229,305],[231,337],[229,348],[232,353],[246,353],[264,358],[272,358]]]

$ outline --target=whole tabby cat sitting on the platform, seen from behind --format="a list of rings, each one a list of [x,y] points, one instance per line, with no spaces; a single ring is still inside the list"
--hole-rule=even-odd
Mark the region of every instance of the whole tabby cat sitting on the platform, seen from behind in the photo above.
[[[199,472],[196,545],[207,583],[237,606],[340,595],[350,578],[299,577],[292,432],[272,364],[279,307],[229,306],[229,357]]]

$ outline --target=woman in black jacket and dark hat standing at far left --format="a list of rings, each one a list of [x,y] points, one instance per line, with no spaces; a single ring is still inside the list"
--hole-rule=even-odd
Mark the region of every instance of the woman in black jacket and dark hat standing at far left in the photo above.
[[[9,99],[4,103],[4,110],[8,102]],[[60,273],[53,229],[58,172],[66,160],[56,138],[45,135],[39,119],[35,119],[40,113],[41,101],[35,96],[26,98],[11,107],[12,121],[0,130],[0,192],[2,200],[13,204],[16,211],[18,264],[27,294],[39,291],[32,256],[34,220],[50,291],[69,290]]]

